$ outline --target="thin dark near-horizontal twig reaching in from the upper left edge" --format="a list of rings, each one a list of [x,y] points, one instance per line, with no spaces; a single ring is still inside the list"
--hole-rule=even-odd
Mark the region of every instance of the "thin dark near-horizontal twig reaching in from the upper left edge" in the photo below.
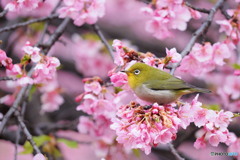
[[[58,14],[51,14],[51,15],[49,15],[47,17],[31,19],[29,21],[22,22],[22,23],[17,23],[17,24],[14,24],[12,26],[6,26],[6,27],[0,29],[0,33],[6,32],[6,31],[10,31],[10,30],[13,30],[13,29],[17,29],[19,27],[27,26],[27,25],[32,24],[32,23],[37,23],[37,22],[51,20],[51,19],[54,19],[54,18],[57,18],[57,17],[58,17]]]

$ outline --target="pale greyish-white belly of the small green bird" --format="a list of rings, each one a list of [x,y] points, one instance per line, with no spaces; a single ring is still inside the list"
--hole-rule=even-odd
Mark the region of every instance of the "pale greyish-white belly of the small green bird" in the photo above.
[[[158,104],[168,104],[176,101],[180,95],[173,90],[152,90],[146,85],[134,89],[135,94],[142,100]]]

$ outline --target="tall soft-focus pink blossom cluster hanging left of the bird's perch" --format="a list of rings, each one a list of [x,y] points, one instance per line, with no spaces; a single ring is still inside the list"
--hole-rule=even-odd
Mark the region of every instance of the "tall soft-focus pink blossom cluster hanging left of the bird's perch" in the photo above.
[[[92,117],[80,116],[78,130],[93,137],[96,154],[106,157],[109,154],[107,148],[113,144],[115,138],[113,130],[109,127],[116,112],[115,105],[112,104],[115,94],[102,86],[102,80],[98,77],[86,78],[83,82],[85,92],[76,97],[76,101],[82,101],[77,110],[84,111]]]

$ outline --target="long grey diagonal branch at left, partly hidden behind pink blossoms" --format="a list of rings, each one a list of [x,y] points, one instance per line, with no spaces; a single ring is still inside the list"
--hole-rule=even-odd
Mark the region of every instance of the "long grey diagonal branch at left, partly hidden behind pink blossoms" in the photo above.
[[[67,24],[70,22],[69,18],[64,19],[64,21],[60,24],[60,26],[56,29],[56,31],[53,33],[53,35],[49,38],[47,42],[47,48],[45,48],[45,53],[47,54],[49,49],[52,47],[52,45],[58,40],[58,38],[63,34]],[[33,71],[34,71],[35,65],[32,66],[30,71],[28,72],[28,76],[31,77]],[[3,120],[0,124],[0,134],[2,133],[4,126],[6,125],[8,119],[11,117],[11,115],[15,112],[19,104],[21,103],[27,88],[31,88],[32,85],[27,85],[25,87],[22,87],[21,90],[19,91],[16,100],[14,101],[12,107],[8,110],[8,112],[4,115]]]

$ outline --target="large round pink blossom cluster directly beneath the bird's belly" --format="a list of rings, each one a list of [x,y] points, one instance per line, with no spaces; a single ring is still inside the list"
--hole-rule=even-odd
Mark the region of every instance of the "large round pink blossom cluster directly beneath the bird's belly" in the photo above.
[[[139,148],[149,154],[153,146],[167,144],[176,138],[181,121],[172,107],[157,103],[150,109],[147,107],[135,102],[121,106],[117,112],[119,119],[111,128],[116,131],[116,140],[126,148]]]

